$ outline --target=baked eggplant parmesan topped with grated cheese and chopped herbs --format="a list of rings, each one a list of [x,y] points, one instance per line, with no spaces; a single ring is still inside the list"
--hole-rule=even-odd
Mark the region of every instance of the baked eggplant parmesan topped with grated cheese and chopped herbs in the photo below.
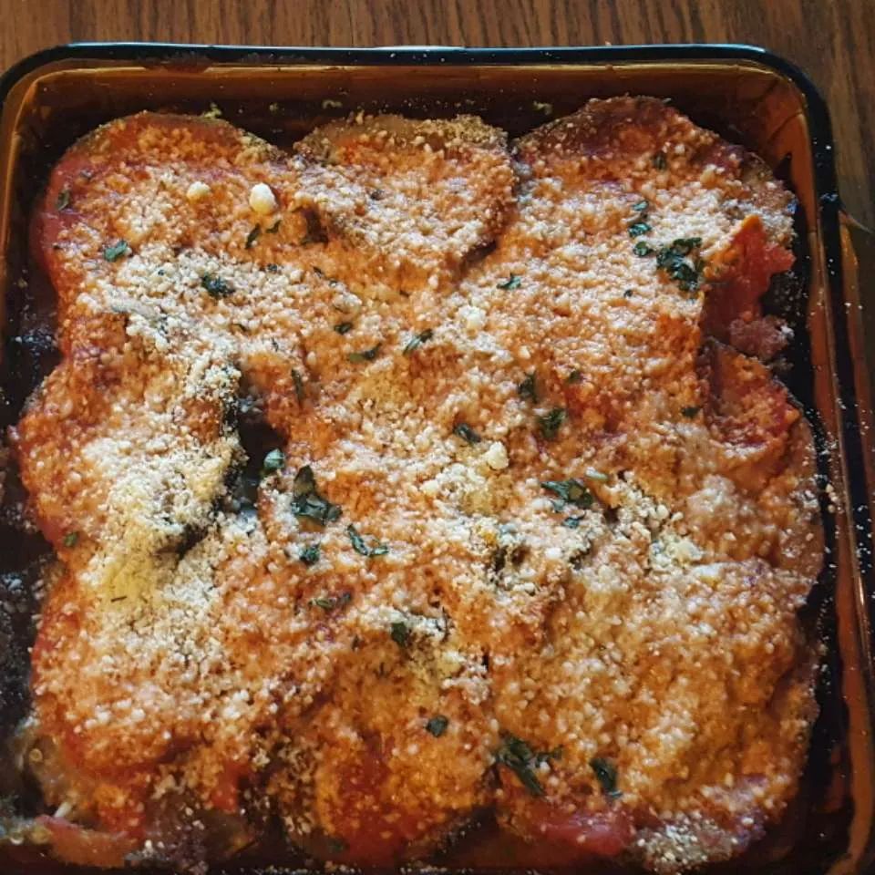
[[[544,865],[741,853],[817,710],[814,448],[760,304],[792,209],[654,98],[510,145],[77,142],[32,230],[62,357],[12,434],[57,554],[16,829],[107,867],[276,819],[364,867],[483,818]]]

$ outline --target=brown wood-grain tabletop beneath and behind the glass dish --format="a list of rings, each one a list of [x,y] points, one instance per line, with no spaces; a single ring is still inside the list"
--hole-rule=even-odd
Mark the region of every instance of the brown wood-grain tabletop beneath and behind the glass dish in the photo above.
[[[875,0],[0,0],[0,23],[0,67],[74,40],[767,46],[826,95],[842,195],[875,225]]]

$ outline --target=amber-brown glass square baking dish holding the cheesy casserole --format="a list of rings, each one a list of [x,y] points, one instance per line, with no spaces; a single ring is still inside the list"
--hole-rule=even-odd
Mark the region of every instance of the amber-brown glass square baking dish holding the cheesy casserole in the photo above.
[[[782,822],[744,857],[712,869],[862,873],[875,858],[875,472],[866,355],[875,314],[862,310],[860,277],[875,268],[875,246],[841,210],[827,108],[787,62],[750,46],[709,45],[493,50],[110,43],[28,57],[0,79],[4,368],[25,386],[22,396],[38,380],[26,373],[33,363],[9,352],[31,278],[27,228],[33,201],[64,149],[110,118],[141,109],[212,109],[287,146],[358,108],[415,116],[464,112],[516,136],[587,98],[627,93],[670,99],[696,123],[757,152],[799,202],[797,255],[807,294],[776,306],[796,332],[791,367],[782,376],[815,427],[824,488],[828,555],[807,609],[827,651],[818,691],[821,715],[798,799]],[[4,425],[17,417],[21,397],[14,395],[5,399]],[[0,528],[2,571],[14,571],[22,561],[8,535]],[[519,871],[499,849],[485,853],[466,847],[465,840],[461,844],[426,868]],[[216,871],[254,873],[265,871],[267,862],[263,853],[244,852]],[[302,859],[287,871],[312,869]],[[15,849],[0,849],[0,870],[69,871]],[[609,870],[618,868],[587,868]]]

